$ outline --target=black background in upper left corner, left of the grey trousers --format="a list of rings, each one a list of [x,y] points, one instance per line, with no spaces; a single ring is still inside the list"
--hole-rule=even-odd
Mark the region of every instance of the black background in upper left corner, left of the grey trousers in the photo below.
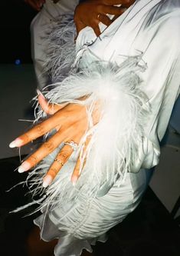
[[[0,1],[0,63],[31,63],[31,20],[36,15],[23,0]]]

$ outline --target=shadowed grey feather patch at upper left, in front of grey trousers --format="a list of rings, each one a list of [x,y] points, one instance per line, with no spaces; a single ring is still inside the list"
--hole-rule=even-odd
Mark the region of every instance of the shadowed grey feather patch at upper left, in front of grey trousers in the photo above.
[[[61,15],[51,32],[47,33],[47,59],[44,62],[44,70],[47,71],[52,83],[62,81],[70,71],[76,56],[75,36],[76,28],[72,15]]]

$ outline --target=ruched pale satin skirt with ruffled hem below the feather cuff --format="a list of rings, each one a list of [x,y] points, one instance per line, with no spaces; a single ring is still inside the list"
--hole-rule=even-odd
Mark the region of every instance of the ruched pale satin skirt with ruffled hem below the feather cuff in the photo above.
[[[139,204],[146,191],[152,171],[142,169],[128,173],[120,187],[116,184],[100,198],[81,198],[68,201],[34,220],[41,228],[41,238],[59,238],[56,256],[80,255],[83,248],[92,251],[90,244],[105,242],[106,231],[123,221]],[[73,208],[73,211],[70,209]],[[68,214],[67,214],[68,212]]]

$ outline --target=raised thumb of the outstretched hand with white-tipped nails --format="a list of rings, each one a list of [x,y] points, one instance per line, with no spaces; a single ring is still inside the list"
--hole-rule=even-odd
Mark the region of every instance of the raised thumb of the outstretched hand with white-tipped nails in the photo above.
[[[57,105],[57,104],[48,103],[47,99],[44,97],[41,91],[37,90],[37,92],[38,92],[39,105],[47,115],[54,115],[54,113],[56,113],[57,111],[59,111],[60,109],[64,108],[67,105],[67,104]]]

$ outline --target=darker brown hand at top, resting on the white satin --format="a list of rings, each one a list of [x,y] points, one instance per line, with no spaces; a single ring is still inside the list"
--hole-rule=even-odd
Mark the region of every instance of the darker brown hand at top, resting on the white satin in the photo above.
[[[126,9],[133,5],[136,0],[87,0],[77,5],[74,12],[74,23],[77,28],[77,35],[80,30],[90,26],[97,36],[100,35],[99,23],[107,27],[122,15]],[[121,5],[120,7],[113,5]],[[114,15],[111,20],[107,14]]]

